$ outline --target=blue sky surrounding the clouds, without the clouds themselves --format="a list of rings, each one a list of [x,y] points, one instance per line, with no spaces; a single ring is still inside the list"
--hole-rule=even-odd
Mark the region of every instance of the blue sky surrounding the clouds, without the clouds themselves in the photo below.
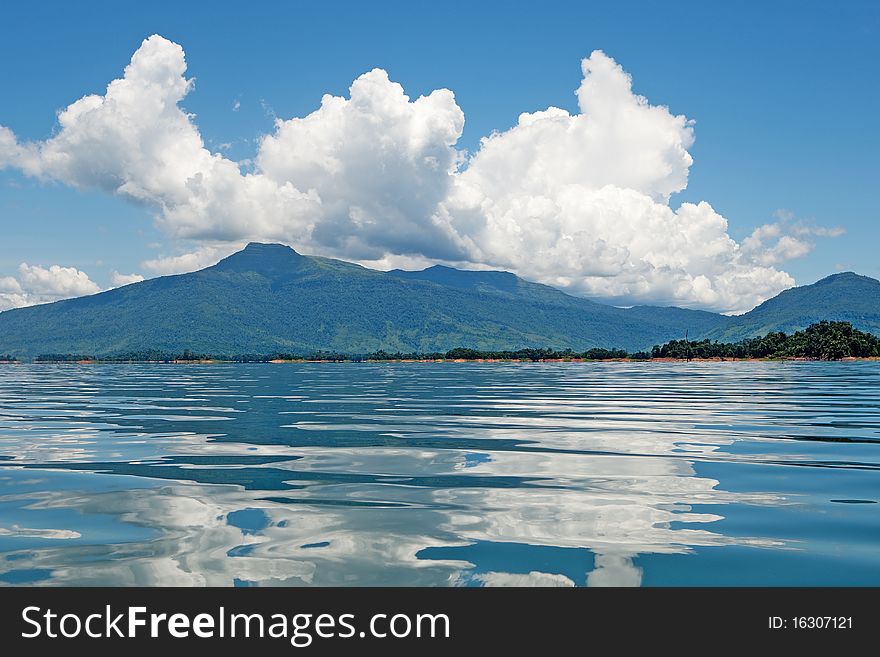
[[[672,194],[673,208],[708,201],[739,243],[778,223],[780,210],[790,217],[786,230],[843,228],[836,237],[814,231],[809,253],[774,266],[799,284],[841,269],[880,276],[877,3],[472,5],[152,2],[123,11],[118,3],[8,3],[0,22],[0,126],[21,143],[50,138],[60,109],[103,94],[143,39],[160,34],[182,46],[186,76],[196,80],[181,106],[195,115],[206,148],[229,159],[254,158],[274,117],[306,116],[323,94],[347,97],[352,81],[374,67],[413,99],[451,89],[465,116],[455,148],[472,154],[481,137],[509,130],[521,112],[552,105],[577,113],[580,61],[600,49],[632,76],[637,94],[695,121],[687,149],[693,165],[687,187]],[[157,227],[156,214],[149,201],[0,170],[0,278],[19,276],[22,262],[75,267],[100,288],[111,285],[113,271],[155,275],[144,261],[204,241]],[[419,254],[398,255],[415,262]],[[370,260],[360,251],[350,257]],[[505,257],[470,259],[518,262]],[[548,276],[526,265],[518,271]],[[604,289],[572,287],[625,296]],[[689,299],[680,301],[701,306]]]

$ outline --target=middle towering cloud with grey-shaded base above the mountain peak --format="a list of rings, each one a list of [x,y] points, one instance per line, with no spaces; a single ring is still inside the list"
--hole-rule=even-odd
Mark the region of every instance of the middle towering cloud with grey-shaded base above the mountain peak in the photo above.
[[[257,170],[277,184],[315,190],[316,245],[353,258],[387,253],[450,258],[458,251],[432,220],[452,182],[464,114],[448,89],[414,101],[373,69],[350,98],[326,95],[305,118],[276,121]]]

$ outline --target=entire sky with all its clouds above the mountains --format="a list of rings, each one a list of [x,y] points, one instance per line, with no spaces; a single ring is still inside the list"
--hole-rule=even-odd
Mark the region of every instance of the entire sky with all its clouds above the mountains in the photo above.
[[[251,240],[720,312],[880,276],[876,2],[6,3],[0,62],[0,310]]]

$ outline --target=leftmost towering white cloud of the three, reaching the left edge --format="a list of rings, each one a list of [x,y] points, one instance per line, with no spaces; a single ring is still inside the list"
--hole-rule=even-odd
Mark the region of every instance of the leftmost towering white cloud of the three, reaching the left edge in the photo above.
[[[308,235],[319,208],[314,194],[242,174],[205,148],[193,117],[178,106],[193,86],[185,71],[183,49],[152,36],[105,95],[84,96],[59,113],[55,136],[19,144],[0,134],[2,162],[152,204],[175,237]]]

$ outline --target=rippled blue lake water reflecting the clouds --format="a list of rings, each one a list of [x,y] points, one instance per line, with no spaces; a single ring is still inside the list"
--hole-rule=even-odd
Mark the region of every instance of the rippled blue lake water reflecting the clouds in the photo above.
[[[880,585],[877,363],[0,367],[0,584]]]

